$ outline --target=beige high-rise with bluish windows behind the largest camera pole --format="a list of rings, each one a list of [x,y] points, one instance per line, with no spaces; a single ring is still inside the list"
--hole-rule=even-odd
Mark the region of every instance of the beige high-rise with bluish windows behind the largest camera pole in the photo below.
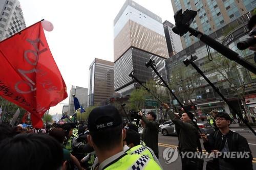
[[[197,11],[190,27],[209,35],[228,23],[256,8],[255,0],[171,0],[174,12],[182,9]],[[183,48],[197,42],[198,39],[186,33],[181,37]]]

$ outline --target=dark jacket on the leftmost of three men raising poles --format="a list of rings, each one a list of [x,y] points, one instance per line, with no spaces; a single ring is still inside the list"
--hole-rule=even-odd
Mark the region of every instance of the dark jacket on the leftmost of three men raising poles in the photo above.
[[[149,121],[145,116],[142,116],[141,119],[146,125],[143,131],[142,140],[158,157],[158,123],[155,121]]]

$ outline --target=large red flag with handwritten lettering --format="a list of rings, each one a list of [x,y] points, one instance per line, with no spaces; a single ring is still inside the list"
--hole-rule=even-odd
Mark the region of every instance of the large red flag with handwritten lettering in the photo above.
[[[0,68],[0,95],[29,111],[35,128],[68,96],[41,21],[0,42]]]

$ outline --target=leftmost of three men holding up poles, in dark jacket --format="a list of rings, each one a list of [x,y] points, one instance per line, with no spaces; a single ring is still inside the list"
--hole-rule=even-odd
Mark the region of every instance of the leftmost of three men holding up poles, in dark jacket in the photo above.
[[[145,123],[143,130],[142,140],[146,143],[147,147],[150,147],[155,155],[158,157],[158,123],[155,121],[157,118],[156,113],[147,112],[146,117],[139,112],[140,119]]]

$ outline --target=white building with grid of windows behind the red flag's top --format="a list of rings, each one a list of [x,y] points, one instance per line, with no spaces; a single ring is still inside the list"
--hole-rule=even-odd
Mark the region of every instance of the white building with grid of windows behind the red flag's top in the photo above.
[[[0,41],[26,28],[19,1],[1,1],[0,10]]]

